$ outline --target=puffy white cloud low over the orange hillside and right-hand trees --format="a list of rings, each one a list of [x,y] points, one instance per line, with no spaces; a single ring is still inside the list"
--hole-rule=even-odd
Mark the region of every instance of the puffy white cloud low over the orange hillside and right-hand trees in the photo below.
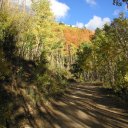
[[[96,28],[103,28],[105,24],[110,24],[111,20],[110,18],[101,18],[98,16],[94,16],[87,24],[85,24],[85,27],[90,30],[95,30]]]

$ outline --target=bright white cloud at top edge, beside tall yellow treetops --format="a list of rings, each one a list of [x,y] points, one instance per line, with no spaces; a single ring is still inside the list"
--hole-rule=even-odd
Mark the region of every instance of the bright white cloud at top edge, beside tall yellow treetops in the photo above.
[[[67,15],[70,8],[65,3],[61,3],[58,0],[50,0],[50,2],[51,10],[57,19],[64,18]]]

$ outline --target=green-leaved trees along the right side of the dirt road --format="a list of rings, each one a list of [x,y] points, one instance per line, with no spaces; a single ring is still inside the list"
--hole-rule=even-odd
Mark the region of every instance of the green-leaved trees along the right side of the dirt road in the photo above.
[[[73,69],[77,77],[128,94],[128,20],[123,14],[98,28],[91,42],[80,46]]]

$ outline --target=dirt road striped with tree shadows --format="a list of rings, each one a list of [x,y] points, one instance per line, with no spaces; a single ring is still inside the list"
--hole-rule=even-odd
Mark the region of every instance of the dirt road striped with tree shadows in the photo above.
[[[45,128],[128,128],[128,106],[99,86],[73,86],[51,104]]]

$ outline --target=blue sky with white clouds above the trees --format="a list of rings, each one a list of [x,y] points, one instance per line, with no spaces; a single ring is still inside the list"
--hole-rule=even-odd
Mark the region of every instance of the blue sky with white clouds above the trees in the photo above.
[[[124,11],[128,15],[126,5],[117,7],[113,0],[50,0],[52,11],[60,22],[87,27],[95,30],[102,28],[105,23],[118,17],[119,12]]]

